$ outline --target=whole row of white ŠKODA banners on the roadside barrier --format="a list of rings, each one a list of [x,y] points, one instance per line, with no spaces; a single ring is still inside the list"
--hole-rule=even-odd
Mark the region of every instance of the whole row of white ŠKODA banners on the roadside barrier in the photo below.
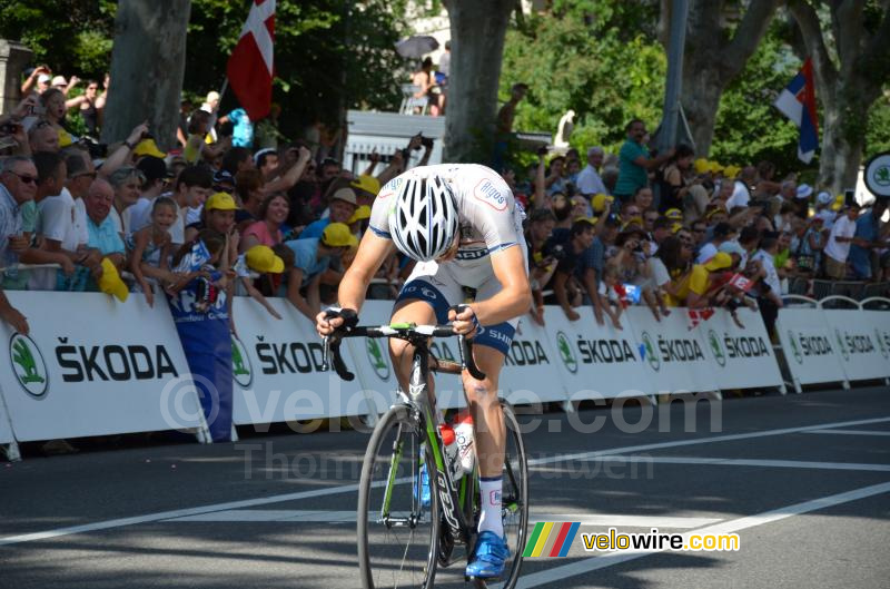
[[[0,444],[160,430],[208,441],[198,392],[165,297],[118,303],[102,294],[9,292],[31,325],[29,336],[0,324]],[[396,377],[385,340],[347,340],[352,382],[322,371],[322,343],[285,300],[274,318],[249,298],[234,301],[234,423],[259,425],[316,418],[376,415],[394,399]],[[815,302],[813,302],[815,304]],[[854,303],[856,304],[856,303]],[[858,305],[858,304],[857,304]],[[365,324],[388,322],[392,302],[368,301]],[[780,359],[760,314],[675,308],[656,321],[630,307],[622,328],[597,325],[590,308],[568,321],[548,307],[546,326],[523,320],[501,373],[514,404],[663,393],[778,387]],[[890,313],[863,308],[782,308],[778,346],[795,390],[817,383],[890,377]],[[457,357],[441,340],[434,354]],[[439,375],[442,408],[465,404],[459,377]]]

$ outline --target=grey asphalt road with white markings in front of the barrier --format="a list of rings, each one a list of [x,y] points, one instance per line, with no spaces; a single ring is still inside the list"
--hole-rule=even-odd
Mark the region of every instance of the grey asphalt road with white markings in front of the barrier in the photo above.
[[[524,416],[531,522],[738,533],[740,550],[589,553],[578,536],[566,558],[526,559],[520,587],[887,587],[890,389],[731,399],[694,414],[694,428],[676,404]],[[595,418],[605,423],[589,431]],[[367,439],[0,463],[0,587],[355,588]],[[466,587],[458,572],[439,571],[436,586]]]

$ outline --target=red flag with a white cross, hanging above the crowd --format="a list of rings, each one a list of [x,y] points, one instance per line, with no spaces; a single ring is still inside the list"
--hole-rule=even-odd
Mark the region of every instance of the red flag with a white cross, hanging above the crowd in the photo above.
[[[271,107],[275,0],[254,0],[241,37],[229,57],[229,86],[250,120],[257,121]]]

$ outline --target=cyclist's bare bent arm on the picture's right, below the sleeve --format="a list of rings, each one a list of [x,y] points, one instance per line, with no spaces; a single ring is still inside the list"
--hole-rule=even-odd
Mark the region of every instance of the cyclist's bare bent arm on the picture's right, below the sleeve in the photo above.
[[[522,247],[514,245],[491,254],[492,269],[501,292],[478,303],[472,303],[476,318],[482,325],[496,325],[524,315],[532,305],[532,287],[525,269]]]

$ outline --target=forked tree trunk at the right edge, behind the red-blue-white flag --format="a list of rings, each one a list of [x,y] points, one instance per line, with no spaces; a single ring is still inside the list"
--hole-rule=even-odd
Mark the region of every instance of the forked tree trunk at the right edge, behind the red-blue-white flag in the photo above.
[[[862,2],[832,6],[831,32],[839,42],[839,65],[829,55],[813,7],[804,0],[789,0],[788,8],[800,28],[805,55],[812,58],[817,98],[822,105],[819,184],[837,194],[856,187],[869,107],[890,77],[890,3],[883,2],[879,26],[868,29]]]

